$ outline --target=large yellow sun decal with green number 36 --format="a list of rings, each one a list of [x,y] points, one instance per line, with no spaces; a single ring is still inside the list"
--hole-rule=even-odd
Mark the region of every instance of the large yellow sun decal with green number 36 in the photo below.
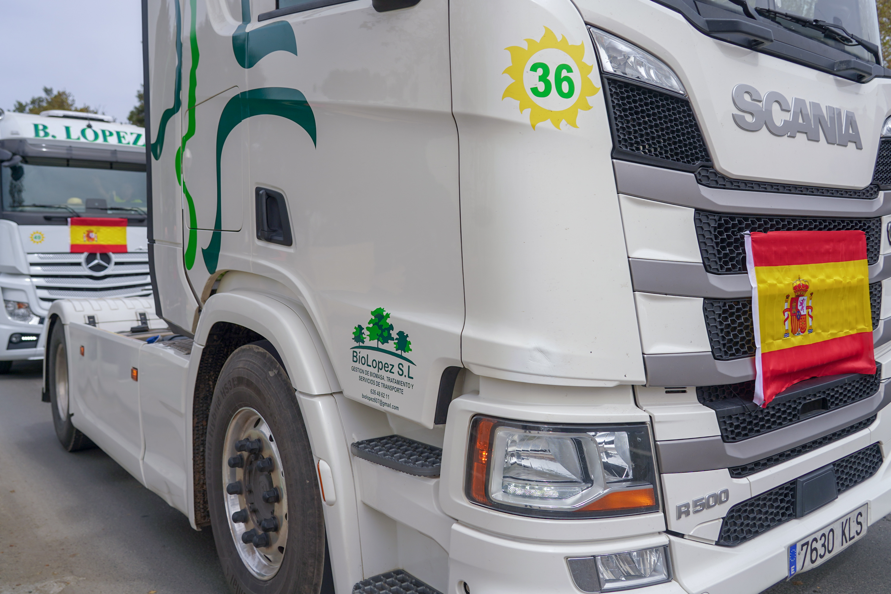
[[[519,101],[520,113],[529,110],[532,129],[546,119],[558,130],[563,121],[577,128],[579,111],[590,110],[588,97],[601,89],[589,75],[593,65],[584,63],[584,44],[569,45],[566,36],[560,41],[550,28],[538,41],[526,40],[527,47],[505,47],[511,53],[511,65],[503,74],[513,78],[504,89],[507,97]]]

